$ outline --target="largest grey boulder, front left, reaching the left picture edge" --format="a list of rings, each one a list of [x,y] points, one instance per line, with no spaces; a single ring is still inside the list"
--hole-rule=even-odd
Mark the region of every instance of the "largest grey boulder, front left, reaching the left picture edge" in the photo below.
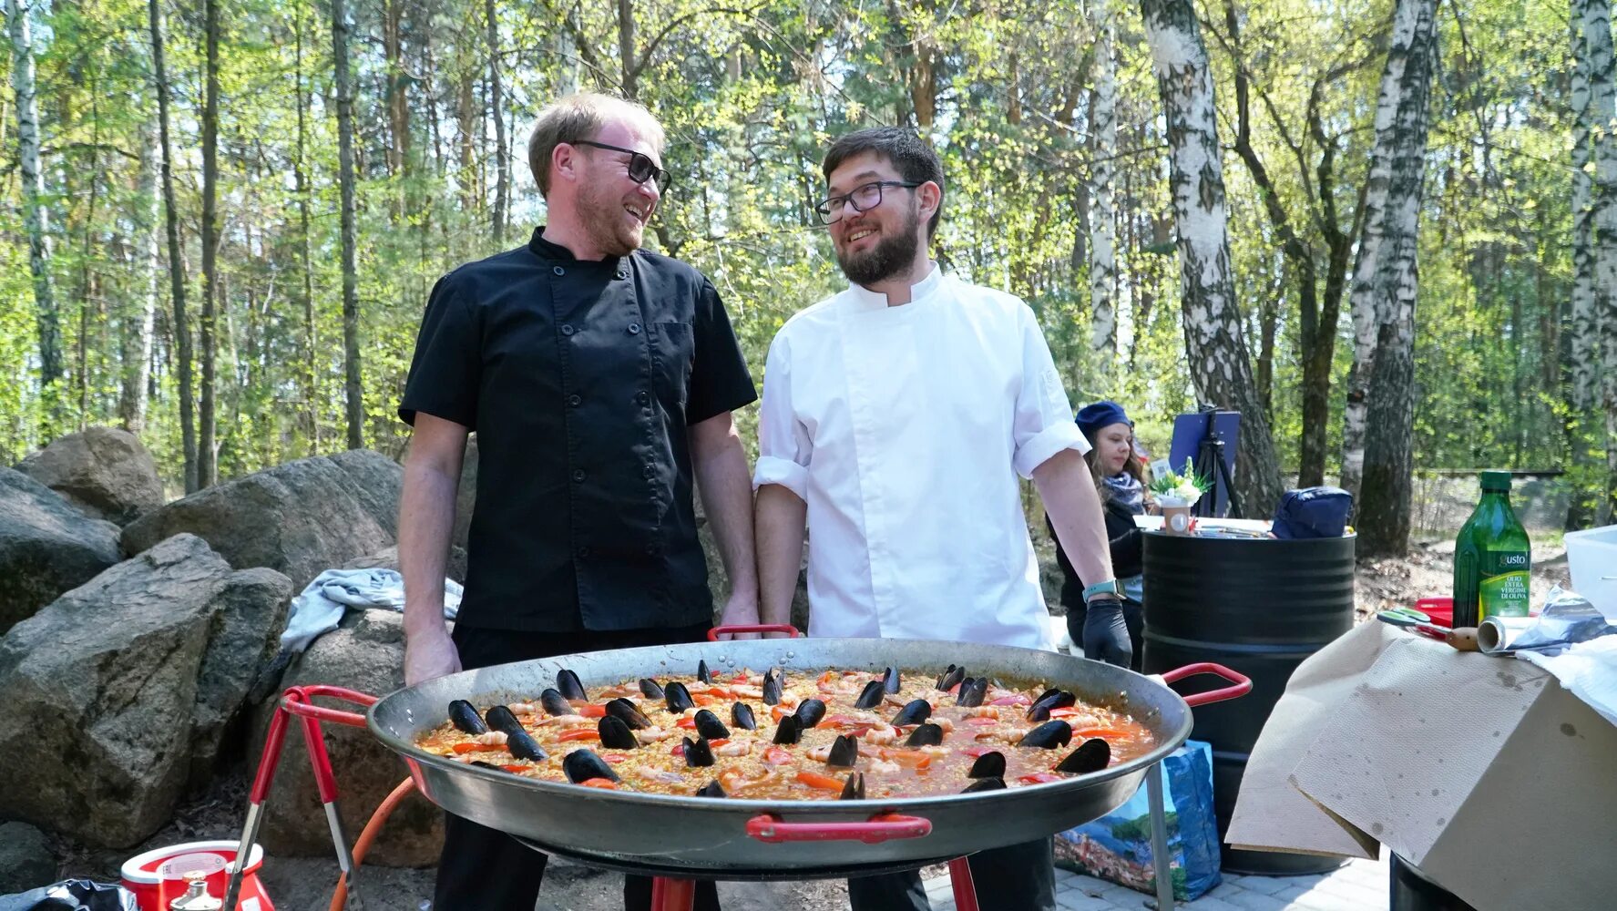
[[[0,817],[108,848],[152,835],[192,756],[217,754],[218,718],[246,691],[228,678],[255,673],[289,591],[178,536],[13,626],[0,639]]]

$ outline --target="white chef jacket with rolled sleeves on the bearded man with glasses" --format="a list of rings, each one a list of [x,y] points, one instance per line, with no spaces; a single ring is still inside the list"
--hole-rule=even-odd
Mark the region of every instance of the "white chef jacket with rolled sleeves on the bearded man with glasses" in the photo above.
[[[754,485],[808,505],[813,636],[1049,647],[1017,474],[1088,450],[1033,311],[943,275],[857,285],[770,345]]]

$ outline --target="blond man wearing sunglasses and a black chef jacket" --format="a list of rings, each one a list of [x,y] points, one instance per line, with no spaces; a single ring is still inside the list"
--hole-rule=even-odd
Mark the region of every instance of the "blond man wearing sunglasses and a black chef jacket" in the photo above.
[[[758,621],[750,466],[731,422],[757,393],[713,285],[639,249],[668,188],[661,149],[640,105],[550,105],[529,139],[548,223],[432,290],[399,405],[416,429],[399,505],[406,684],[702,639],[713,604],[692,482],[731,579],[723,621]],[[451,636],[443,573],[474,430]],[[543,872],[543,854],[450,816],[433,908],[530,911]],[[624,905],[647,908],[650,880],[627,877]],[[697,906],[718,908],[711,883]]]

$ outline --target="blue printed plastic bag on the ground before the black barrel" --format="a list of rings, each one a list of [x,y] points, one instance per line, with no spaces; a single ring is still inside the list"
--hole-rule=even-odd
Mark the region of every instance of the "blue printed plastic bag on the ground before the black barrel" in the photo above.
[[[1213,816],[1213,748],[1187,739],[1150,775],[1163,775],[1163,814],[1174,898],[1190,901],[1222,882]],[[1121,807],[1056,833],[1056,866],[1156,895],[1151,809],[1145,785]]]

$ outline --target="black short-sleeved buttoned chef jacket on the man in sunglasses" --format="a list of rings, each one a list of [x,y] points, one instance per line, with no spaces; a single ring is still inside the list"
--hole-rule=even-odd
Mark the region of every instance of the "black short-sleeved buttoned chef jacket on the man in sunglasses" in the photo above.
[[[690,265],[542,231],[438,282],[399,405],[477,430],[458,623],[707,623],[686,430],[757,398],[729,317]]]

